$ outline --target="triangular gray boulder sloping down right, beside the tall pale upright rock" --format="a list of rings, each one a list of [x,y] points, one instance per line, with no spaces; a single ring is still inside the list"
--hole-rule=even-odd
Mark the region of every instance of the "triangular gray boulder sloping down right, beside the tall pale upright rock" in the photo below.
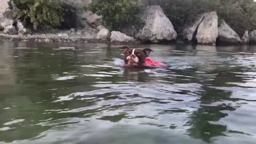
[[[240,43],[241,38],[224,20],[220,21],[218,28],[218,43],[219,44],[234,44]]]

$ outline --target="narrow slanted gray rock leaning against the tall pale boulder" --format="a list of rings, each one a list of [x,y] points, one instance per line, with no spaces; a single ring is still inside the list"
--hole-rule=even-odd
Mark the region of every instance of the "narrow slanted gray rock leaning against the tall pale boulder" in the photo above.
[[[197,29],[198,26],[200,25],[200,23],[202,22],[202,20],[204,19],[204,14],[202,14],[201,16],[199,16],[195,22],[191,23],[189,26],[187,26],[184,30],[183,30],[183,39],[185,41],[191,42],[195,40],[195,36],[197,34]]]

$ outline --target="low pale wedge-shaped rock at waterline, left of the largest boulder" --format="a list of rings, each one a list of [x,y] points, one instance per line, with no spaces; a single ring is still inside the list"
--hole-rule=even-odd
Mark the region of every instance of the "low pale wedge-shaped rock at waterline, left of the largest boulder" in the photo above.
[[[121,33],[120,31],[112,31],[110,42],[111,43],[133,43],[135,42],[135,39]]]

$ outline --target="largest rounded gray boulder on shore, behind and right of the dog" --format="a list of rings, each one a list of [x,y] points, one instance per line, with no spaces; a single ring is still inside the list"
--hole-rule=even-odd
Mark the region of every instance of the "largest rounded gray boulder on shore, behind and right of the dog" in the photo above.
[[[159,43],[177,39],[172,22],[166,17],[160,6],[147,7],[142,14],[142,20],[146,25],[137,34],[137,38],[142,42]]]

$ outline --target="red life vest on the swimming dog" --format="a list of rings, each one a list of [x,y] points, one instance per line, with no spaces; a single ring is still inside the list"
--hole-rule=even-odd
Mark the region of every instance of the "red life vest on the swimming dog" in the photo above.
[[[167,68],[167,66],[161,61],[156,61],[156,60],[151,60],[149,58],[146,58],[145,65],[143,66],[123,65],[123,68]]]

